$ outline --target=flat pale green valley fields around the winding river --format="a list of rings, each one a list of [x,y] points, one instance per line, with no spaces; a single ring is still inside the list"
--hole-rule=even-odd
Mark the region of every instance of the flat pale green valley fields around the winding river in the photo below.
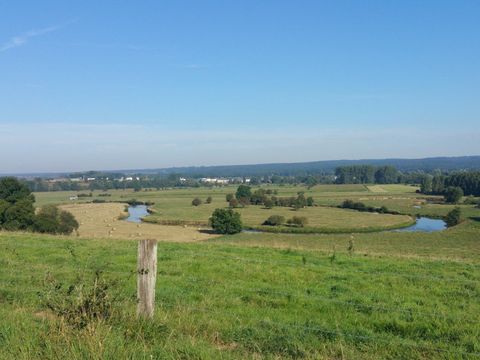
[[[416,194],[417,187],[407,185],[317,185],[311,189],[301,186],[264,186],[266,189],[276,189],[279,197],[295,196],[299,191],[305,192],[305,196],[312,196],[317,207],[293,211],[290,208],[274,207],[265,209],[262,206],[248,206],[237,209],[241,213],[246,226],[258,227],[270,215],[282,215],[285,218],[292,216],[307,217],[308,226],[319,232],[338,231],[361,231],[366,229],[382,230],[405,226],[412,222],[408,216],[393,216],[387,214],[360,213],[357,211],[334,209],[344,200],[351,199],[364,202],[366,205],[381,207],[386,206],[390,210],[409,215],[426,215],[433,217],[445,216],[455,205],[438,204],[440,197],[424,196]],[[373,191],[372,191],[373,189]],[[381,190],[380,190],[381,189]],[[131,190],[108,191],[111,196],[100,197],[101,192],[93,192],[93,197],[80,198],[78,201],[86,202],[93,199],[106,201],[126,201],[137,199],[141,201],[153,201],[152,207],[155,213],[148,218],[150,222],[184,221],[185,223],[199,222],[208,223],[213,210],[218,207],[226,207],[225,196],[235,193],[235,186],[219,188],[185,188],[133,192]],[[75,192],[50,192],[36,193],[37,205],[49,203],[72,203],[69,200]],[[205,200],[211,196],[211,204],[192,206],[195,197]],[[480,211],[473,205],[460,205],[464,218],[478,216]]]

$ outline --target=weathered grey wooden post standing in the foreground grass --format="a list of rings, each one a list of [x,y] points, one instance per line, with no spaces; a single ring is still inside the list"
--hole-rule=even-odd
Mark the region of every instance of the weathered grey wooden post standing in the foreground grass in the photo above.
[[[138,242],[137,316],[153,317],[157,280],[157,240]]]

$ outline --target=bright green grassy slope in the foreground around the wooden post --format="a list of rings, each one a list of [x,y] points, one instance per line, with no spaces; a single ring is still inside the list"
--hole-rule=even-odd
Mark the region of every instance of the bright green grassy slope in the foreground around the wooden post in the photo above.
[[[466,228],[440,248],[395,234],[358,240],[351,253],[335,236],[298,235],[323,243],[298,249],[293,239],[284,249],[243,246],[245,234],[160,243],[157,311],[147,323],[135,318],[136,242],[1,233],[0,357],[477,358],[480,262],[470,235],[479,229]],[[402,236],[425,257],[404,257]],[[49,311],[52,279],[67,298],[97,270],[115,281],[111,317],[79,329]]]

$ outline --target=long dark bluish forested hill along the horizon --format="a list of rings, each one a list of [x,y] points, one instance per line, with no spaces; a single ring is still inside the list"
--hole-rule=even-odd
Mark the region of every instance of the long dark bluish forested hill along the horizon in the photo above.
[[[262,175],[298,175],[333,174],[335,168],[345,165],[391,165],[402,172],[435,170],[479,170],[480,156],[432,157],[424,159],[365,159],[365,160],[327,160],[302,163],[278,163],[256,165],[177,167],[148,170],[149,173],[178,173],[187,176],[262,176]],[[139,172],[143,172],[140,171]],[[147,172],[147,170],[145,170]]]

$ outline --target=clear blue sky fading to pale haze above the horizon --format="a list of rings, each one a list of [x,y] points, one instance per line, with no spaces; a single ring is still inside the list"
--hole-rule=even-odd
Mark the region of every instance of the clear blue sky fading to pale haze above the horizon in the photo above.
[[[0,173],[480,154],[478,1],[0,3]]]

